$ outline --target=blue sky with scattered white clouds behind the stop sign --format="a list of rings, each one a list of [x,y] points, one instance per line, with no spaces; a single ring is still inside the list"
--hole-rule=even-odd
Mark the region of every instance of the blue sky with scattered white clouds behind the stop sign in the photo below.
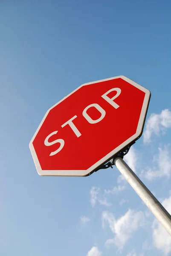
[[[83,83],[128,76],[152,97],[125,160],[171,213],[170,10],[168,0],[0,0],[0,255],[171,255],[115,168],[40,177],[29,151],[52,105]]]

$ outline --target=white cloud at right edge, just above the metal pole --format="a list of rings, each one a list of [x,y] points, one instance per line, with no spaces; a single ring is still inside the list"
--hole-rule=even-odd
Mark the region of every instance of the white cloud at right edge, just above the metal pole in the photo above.
[[[148,168],[145,173],[145,177],[148,180],[153,180],[159,177],[170,177],[171,175],[171,157],[169,154],[168,146],[164,145],[164,148],[158,148],[159,153],[154,156],[154,167]],[[156,166],[155,166],[156,165]]]

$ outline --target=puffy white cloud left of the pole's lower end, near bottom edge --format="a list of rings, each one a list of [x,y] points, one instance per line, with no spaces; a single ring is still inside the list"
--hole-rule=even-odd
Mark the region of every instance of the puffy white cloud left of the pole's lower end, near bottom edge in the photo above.
[[[145,224],[145,218],[143,212],[136,212],[129,209],[125,215],[116,220],[112,213],[105,211],[102,212],[103,228],[106,222],[109,224],[110,230],[114,234],[114,238],[108,239],[105,244],[115,244],[119,250],[122,250],[133,232]]]

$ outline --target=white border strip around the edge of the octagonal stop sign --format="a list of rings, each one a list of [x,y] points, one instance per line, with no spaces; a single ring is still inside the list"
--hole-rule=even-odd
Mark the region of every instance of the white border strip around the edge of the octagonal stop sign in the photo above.
[[[132,137],[130,137],[124,143],[119,145],[117,148],[115,148],[113,151],[111,151],[105,157],[101,158],[101,160],[99,160],[97,163],[95,163],[93,166],[91,166],[87,170],[42,170],[41,165],[40,165],[39,160],[38,160],[38,157],[37,157],[36,152],[35,152],[35,148],[33,146],[33,141],[34,141],[36,135],[38,134],[38,131],[40,130],[44,120],[46,119],[46,116],[49,113],[49,111],[52,108],[54,108],[55,106],[57,106],[64,99],[69,97],[72,93],[75,93],[75,91],[79,90],[83,86],[86,86],[86,85],[89,85],[89,84],[95,84],[95,83],[99,83],[99,82],[103,82],[103,81],[108,81],[108,80],[112,80],[112,79],[118,79],[118,78],[122,78],[123,80],[132,84],[133,86],[135,86],[139,90],[145,92],[145,98],[144,98],[144,102],[143,102],[143,105],[142,105],[142,111],[141,111],[141,114],[140,114],[139,123],[138,123],[137,129],[136,129],[136,134],[134,134]],[[146,89],[146,88],[142,87],[141,85],[137,84],[136,82],[130,80],[126,76],[115,76],[115,77],[108,78],[108,79],[103,79],[103,80],[98,80],[98,81],[93,81],[93,82],[90,82],[90,83],[82,84],[80,87],[78,87],[72,93],[68,94],[66,97],[64,97],[64,99],[62,99],[61,101],[59,101],[58,103],[53,105],[52,108],[49,108],[49,110],[46,112],[45,116],[43,117],[43,120],[41,121],[37,131],[35,132],[34,136],[32,137],[32,140],[29,143],[29,148],[30,148],[30,151],[31,151],[31,154],[32,154],[37,172],[41,176],[78,176],[78,177],[88,176],[91,173],[93,173],[94,171],[96,171],[98,169],[98,167],[101,166],[101,164],[106,163],[108,160],[110,160],[113,157],[113,155],[116,155],[117,153],[122,151],[123,148],[130,145],[130,143],[132,143],[133,141],[136,141],[142,135],[142,131],[143,131],[143,128],[144,128],[144,123],[145,123],[145,117],[146,117],[146,114],[147,114],[148,105],[149,105],[149,101],[150,101],[150,97],[151,97],[151,92],[148,89]],[[85,159],[85,161],[86,161],[86,159]]]

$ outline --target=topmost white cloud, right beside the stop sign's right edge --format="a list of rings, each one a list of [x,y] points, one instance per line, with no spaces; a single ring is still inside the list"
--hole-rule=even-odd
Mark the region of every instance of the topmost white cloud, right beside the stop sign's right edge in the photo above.
[[[167,128],[171,128],[171,111],[165,109],[160,114],[151,114],[146,122],[143,133],[144,143],[148,144],[151,142],[151,135],[153,133],[159,135],[161,131],[164,134]]]

